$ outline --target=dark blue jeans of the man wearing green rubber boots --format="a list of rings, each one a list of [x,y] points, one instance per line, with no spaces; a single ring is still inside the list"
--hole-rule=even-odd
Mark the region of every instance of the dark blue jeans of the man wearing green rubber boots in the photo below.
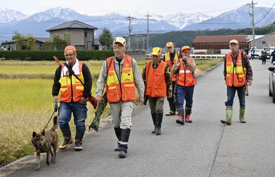
[[[225,106],[233,106],[233,100],[235,97],[235,93],[238,93],[240,107],[245,107],[245,86],[235,87],[235,86],[227,86],[227,101],[225,102]]]

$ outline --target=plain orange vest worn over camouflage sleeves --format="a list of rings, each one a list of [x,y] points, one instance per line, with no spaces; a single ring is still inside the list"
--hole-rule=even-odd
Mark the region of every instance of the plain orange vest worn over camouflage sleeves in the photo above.
[[[152,97],[164,97],[166,96],[166,81],[164,73],[167,63],[160,61],[160,64],[155,71],[150,63],[151,61],[146,61],[146,74],[148,73],[148,69],[149,73],[147,77],[145,95]]]

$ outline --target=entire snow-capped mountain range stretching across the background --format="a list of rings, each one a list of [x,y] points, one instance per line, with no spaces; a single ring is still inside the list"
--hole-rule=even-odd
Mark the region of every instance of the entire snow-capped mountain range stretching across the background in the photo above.
[[[254,7],[255,26],[260,27],[275,21],[275,9],[266,7]],[[219,16],[213,17],[201,13],[186,14],[177,12],[169,16],[150,14],[149,30],[150,33],[165,33],[169,31],[182,30],[204,30],[204,29],[223,29],[223,28],[246,28],[251,26],[250,5],[244,5],[238,9],[227,11]],[[10,40],[12,32],[17,30],[22,34],[33,34],[37,37],[49,37],[46,32],[54,26],[65,21],[78,20],[83,23],[95,26],[95,37],[97,37],[104,27],[110,29],[114,36],[126,36],[129,32],[129,19],[131,16],[132,34],[147,33],[147,14],[133,12],[107,14],[80,14],[69,8],[52,8],[44,12],[35,14],[23,14],[12,9],[0,9],[0,40]],[[133,17],[133,18],[132,18]],[[263,18],[263,19],[262,19]],[[262,20],[261,20],[262,19]],[[261,20],[261,21],[260,21]],[[259,23],[257,23],[259,21]],[[270,23],[265,23],[269,22]]]

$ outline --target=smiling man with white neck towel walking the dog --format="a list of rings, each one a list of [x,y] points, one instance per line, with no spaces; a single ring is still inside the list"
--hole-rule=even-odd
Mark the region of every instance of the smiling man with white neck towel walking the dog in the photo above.
[[[69,121],[73,113],[76,127],[74,150],[81,151],[82,138],[86,131],[85,119],[87,118],[88,111],[86,100],[91,92],[92,77],[88,66],[76,58],[77,52],[74,46],[67,46],[64,50],[64,56],[66,63],[61,64],[55,71],[54,84],[52,86],[54,102],[58,101],[57,95],[59,94],[59,90],[61,93],[58,123],[64,141],[59,148],[67,148],[67,146],[72,143]],[[79,78],[84,85],[82,85],[77,78]]]

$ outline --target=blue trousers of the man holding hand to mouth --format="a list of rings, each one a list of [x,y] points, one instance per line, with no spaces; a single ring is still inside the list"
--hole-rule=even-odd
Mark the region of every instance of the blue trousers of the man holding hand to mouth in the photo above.
[[[184,99],[186,101],[185,107],[192,108],[194,87],[177,85],[178,108],[183,108]]]

